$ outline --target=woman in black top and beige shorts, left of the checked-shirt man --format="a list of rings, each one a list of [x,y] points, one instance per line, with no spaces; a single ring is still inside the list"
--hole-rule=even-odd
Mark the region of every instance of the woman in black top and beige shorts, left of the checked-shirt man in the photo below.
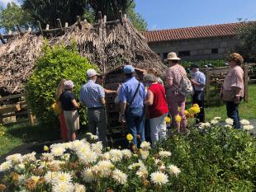
[[[64,110],[68,141],[74,141],[76,139],[76,132],[79,129],[79,105],[72,91],[73,82],[71,80],[65,81],[64,92],[59,96],[59,101]]]

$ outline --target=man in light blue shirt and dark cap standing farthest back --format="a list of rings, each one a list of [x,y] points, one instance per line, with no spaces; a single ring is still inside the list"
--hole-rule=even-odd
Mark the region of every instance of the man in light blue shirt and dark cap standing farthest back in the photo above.
[[[204,88],[206,85],[206,76],[204,73],[199,71],[199,66],[197,64],[191,65],[192,70],[192,87],[194,89],[194,94],[192,96],[192,104],[198,104],[200,107],[200,113],[197,114],[197,123],[205,122],[205,97],[204,97]]]

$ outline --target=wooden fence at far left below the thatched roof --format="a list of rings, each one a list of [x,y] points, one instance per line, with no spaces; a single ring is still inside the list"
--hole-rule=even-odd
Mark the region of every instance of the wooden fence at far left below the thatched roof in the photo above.
[[[0,103],[15,101],[13,104],[0,106],[0,124],[3,124],[6,118],[12,118],[12,121],[17,121],[17,116],[21,115],[27,115],[29,122],[35,124],[36,117],[32,114],[29,105],[26,104],[25,98],[24,94],[0,97]]]

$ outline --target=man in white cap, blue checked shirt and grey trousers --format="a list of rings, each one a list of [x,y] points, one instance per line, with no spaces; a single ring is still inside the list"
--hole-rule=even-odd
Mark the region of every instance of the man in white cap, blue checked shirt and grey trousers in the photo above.
[[[104,147],[107,147],[107,116],[105,111],[105,91],[96,83],[99,74],[94,69],[88,69],[88,82],[80,91],[80,102],[88,108],[89,131],[97,134]]]

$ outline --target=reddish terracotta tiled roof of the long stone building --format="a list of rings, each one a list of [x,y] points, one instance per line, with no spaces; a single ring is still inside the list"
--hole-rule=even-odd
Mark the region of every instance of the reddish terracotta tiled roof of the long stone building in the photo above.
[[[212,26],[194,26],[169,30],[151,30],[143,32],[148,42],[159,42],[165,40],[186,40],[215,36],[235,35],[235,30],[241,26],[248,25],[247,22],[236,22]]]

